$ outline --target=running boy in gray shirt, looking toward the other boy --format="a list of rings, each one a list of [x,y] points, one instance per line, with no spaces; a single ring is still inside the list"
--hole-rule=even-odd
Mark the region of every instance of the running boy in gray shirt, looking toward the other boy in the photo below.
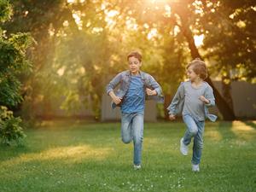
[[[169,118],[175,119],[177,113],[182,113],[187,131],[180,140],[180,151],[188,154],[188,145],[194,137],[192,171],[199,172],[201,151],[203,147],[203,132],[205,119],[215,121],[217,117],[208,113],[208,108],[215,105],[212,87],[204,81],[207,78],[207,66],[200,59],[191,61],[187,67],[189,81],[179,85],[172,99],[169,110]]]

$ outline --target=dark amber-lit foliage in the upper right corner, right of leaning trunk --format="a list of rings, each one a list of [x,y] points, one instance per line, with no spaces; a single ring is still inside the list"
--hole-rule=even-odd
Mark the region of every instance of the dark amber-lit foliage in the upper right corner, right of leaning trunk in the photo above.
[[[205,35],[203,49],[212,73],[231,81],[256,79],[255,1],[206,1],[195,28]]]

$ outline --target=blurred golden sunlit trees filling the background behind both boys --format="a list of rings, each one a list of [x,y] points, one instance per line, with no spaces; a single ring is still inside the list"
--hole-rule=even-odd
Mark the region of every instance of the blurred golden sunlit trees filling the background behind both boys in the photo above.
[[[4,34],[29,32],[37,42],[27,51],[33,72],[20,75],[21,110],[27,119],[40,103],[47,115],[55,100],[70,113],[93,108],[97,119],[105,86],[126,68],[132,49],[143,53],[143,70],[154,75],[169,100],[185,78],[188,61],[207,61],[207,81],[224,84],[224,97],[215,90],[224,119],[236,119],[230,83],[255,83],[253,0],[9,2],[13,16],[2,24]]]

